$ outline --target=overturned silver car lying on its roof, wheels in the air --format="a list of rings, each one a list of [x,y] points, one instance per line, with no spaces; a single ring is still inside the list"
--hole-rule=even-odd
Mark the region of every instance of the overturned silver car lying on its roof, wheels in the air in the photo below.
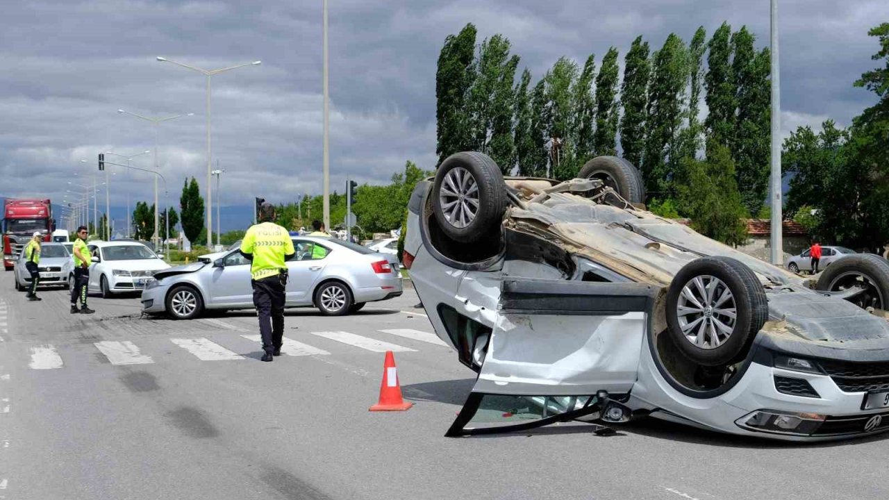
[[[641,175],[504,178],[457,153],[409,206],[404,263],[477,382],[449,436],[651,415],[835,440],[889,430],[889,262],[817,281],[645,211]]]

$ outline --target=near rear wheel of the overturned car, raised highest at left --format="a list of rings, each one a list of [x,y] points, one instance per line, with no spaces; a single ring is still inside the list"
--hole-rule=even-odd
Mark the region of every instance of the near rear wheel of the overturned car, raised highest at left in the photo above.
[[[462,169],[463,172],[457,169]],[[451,185],[454,179],[467,179],[465,173],[469,173],[471,181],[475,182],[475,191],[472,191],[471,184],[467,183],[466,190],[469,192],[457,192],[451,196],[449,193],[454,192],[454,186]],[[464,197],[458,198],[457,195]],[[461,243],[475,243],[491,238],[491,233],[498,230],[506,212],[506,184],[503,182],[500,167],[487,155],[475,151],[454,153],[442,162],[436,172],[431,196],[432,211],[435,213],[438,225],[448,238]],[[448,201],[451,199],[453,202]],[[451,204],[467,199],[474,201],[451,207],[453,206]],[[472,203],[478,205],[475,214],[471,212]],[[469,214],[459,208],[460,206],[469,208]],[[452,218],[457,220],[452,222]]]

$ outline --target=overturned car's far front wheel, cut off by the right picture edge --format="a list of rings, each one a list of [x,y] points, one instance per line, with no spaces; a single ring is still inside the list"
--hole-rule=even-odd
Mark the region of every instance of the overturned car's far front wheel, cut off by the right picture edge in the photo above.
[[[819,290],[837,292],[849,286],[863,286],[865,292],[849,298],[862,309],[889,307],[889,262],[874,254],[848,255],[819,273]]]

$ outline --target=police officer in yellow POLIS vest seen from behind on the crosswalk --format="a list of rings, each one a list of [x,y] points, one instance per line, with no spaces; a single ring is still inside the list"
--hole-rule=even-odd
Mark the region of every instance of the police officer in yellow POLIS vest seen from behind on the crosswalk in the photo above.
[[[275,222],[275,206],[260,206],[260,223],[252,225],[241,241],[241,254],[252,262],[250,274],[253,305],[260,317],[263,361],[281,355],[284,336],[284,286],[287,284],[285,261],[296,251],[290,233]],[[282,272],[283,271],[283,272]]]

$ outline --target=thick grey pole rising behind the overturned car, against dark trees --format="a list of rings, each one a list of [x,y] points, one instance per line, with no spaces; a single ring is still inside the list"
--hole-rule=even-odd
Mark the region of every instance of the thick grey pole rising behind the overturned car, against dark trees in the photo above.
[[[778,0],[772,0],[772,263],[784,265],[781,235],[781,67],[778,61]]]

